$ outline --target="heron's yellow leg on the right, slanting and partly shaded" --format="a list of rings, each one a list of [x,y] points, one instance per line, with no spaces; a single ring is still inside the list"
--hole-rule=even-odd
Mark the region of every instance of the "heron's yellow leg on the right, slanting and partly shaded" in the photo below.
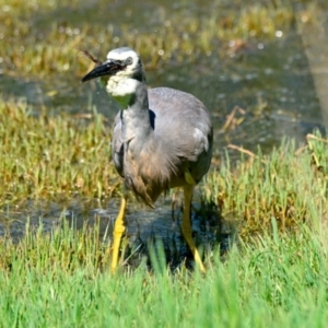
[[[183,235],[187,241],[189,248],[191,249],[196,263],[199,266],[201,272],[206,272],[206,268],[200,259],[199,253],[192,239],[192,232],[190,226],[190,208],[191,208],[191,200],[192,200],[192,191],[194,191],[194,186],[187,185],[184,187],[185,208],[184,208],[184,219],[183,219],[181,230],[183,230]]]

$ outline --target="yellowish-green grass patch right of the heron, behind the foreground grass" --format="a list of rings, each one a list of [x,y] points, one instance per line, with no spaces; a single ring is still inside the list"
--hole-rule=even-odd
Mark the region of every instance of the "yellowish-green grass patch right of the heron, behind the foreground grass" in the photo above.
[[[270,154],[259,149],[249,160],[242,153],[234,169],[227,160],[207,176],[206,198],[219,201],[245,237],[270,229],[272,218],[283,232],[311,221],[328,208],[328,142],[319,133],[308,134],[307,142],[297,149],[284,140]]]

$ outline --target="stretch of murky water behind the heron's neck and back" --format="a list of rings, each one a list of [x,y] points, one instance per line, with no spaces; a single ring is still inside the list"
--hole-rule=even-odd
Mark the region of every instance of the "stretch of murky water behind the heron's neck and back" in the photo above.
[[[303,142],[306,133],[324,126],[314,81],[296,33],[263,45],[247,45],[230,59],[202,57],[192,65],[177,63],[149,71],[148,84],[192,93],[207,105],[214,125],[216,154],[227,143],[251,151],[260,144],[263,151],[270,151],[284,137]],[[96,108],[112,121],[118,109],[99,85],[82,84],[78,77],[30,81],[0,75],[0,86],[4,97],[22,97],[35,108],[46,106],[58,115]],[[223,132],[226,117],[235,106],[245,110],[238,114],[244,120]]]

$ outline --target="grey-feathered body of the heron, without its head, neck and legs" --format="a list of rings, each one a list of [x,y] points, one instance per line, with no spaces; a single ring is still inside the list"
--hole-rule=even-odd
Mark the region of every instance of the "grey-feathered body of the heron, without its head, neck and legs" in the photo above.
[[[127,186],[153,207],[162,191],[186,184],[186,169],[197,183],[200,181],[210,166],[213,138],[208,110],[191,94],[156,87],[149,90],[148,96],[149,134],[140,136],[141,143],[131,140],[125,145],[122,140],[129,137],[122,137],[126,113],[120,110],[115,119],[112,155]],[[144,117],[138,114],[134,119],[140,127],[139,119],[144,120]],[[125,147],[133,153],[133,161],[125,159]]]

